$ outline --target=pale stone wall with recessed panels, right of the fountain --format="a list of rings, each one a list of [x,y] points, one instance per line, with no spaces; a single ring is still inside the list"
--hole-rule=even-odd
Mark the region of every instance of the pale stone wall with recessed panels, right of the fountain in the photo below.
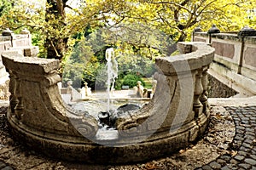
[[[214,76],[225,77],[228,86],[248,96],[256,94],[256,37],[238,36],[237,32],[212,33],[195,32],[195,42],[208,42],[215,48],[210,67]],[[210,72],[211,72],[210,71]],[[236,83],[236,84],[234,84]]]

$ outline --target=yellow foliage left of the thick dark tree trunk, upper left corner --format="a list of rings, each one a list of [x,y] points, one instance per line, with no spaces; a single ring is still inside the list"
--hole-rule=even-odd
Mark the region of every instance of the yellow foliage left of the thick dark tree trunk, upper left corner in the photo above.
[[[44,57],[44,0],[29,3],[21,0],[7,1],[14,3],[11,3],[11,7],[3,9],[4,12],[0,15],[0,28],[9,28],[15,33],[27,28],[32,33],[32,43],[39,46],[39,56]]]

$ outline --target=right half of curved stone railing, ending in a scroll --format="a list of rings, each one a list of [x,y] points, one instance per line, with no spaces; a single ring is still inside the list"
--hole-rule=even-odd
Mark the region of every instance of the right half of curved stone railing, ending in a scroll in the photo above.
[[[207,69],[214,49],[191,42],[180,42],[177,48],[182,54],[156,59],[159,72],[154,76],[158,82],[154,99],[141,111],[119,118],[120,135],[133,138],[152,132],[165,139],[179,135],[183,143],[174,142],[179,148],[204,132],[208,117]]]

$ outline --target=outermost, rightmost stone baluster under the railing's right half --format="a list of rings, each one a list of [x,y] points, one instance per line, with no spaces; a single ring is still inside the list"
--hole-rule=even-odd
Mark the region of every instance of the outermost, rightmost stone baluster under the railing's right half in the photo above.
[[[207,98],[207,96],[208,96],[208,93],[207,93],[208,75],[207,75],[207,70],[208,70],[208,66],[203,68],[202,78],[201,78],[201,84],[202,84],[203,92],[201,94],[200,101],[201,101],[201,104],[203,105],[203,113],[206,113],[207,108],[208,108],[208,98]]]

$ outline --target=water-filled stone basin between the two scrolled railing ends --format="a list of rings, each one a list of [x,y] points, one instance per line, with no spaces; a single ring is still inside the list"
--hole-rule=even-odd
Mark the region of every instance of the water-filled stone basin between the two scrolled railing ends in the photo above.
[[[89,114],[95,117],[99,126],[96,140],[113,140],[118,139],[116,127],[118,118],[138,111],[148,102],[149,99],[111,99],[108,106],[108,99],[96,99],[77,102],[71,105],[71,108],[78,115]]]

